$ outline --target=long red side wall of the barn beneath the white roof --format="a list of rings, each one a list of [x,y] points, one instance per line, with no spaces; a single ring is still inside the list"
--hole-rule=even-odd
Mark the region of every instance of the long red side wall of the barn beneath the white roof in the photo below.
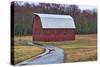
[[[64,40],[74,40],[75,33],[74,29],[46,29],[42,30],[39,40],[42,41],[64,41]]]

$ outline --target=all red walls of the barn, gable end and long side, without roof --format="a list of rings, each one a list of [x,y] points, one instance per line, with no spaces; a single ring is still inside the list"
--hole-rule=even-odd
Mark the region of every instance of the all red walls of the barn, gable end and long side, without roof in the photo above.
[[[65,41],[75,40],[75,29],[42,29],[38,16],[33,20],[34,41]]]

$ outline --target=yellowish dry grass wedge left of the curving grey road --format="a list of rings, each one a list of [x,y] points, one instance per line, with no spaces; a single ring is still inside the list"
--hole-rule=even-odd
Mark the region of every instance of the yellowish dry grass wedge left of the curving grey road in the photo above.
[[[14,46],[14,64],[32,58],[43,51],[44,49],[37,46],[17,44]]]

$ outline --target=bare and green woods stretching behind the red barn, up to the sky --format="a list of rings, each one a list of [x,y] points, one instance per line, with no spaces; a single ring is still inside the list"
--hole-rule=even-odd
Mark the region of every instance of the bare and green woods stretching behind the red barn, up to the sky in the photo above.
[[[97,10],[81,10],[77,5],[54,3],[12,2],[14,4],[14,34],[32,34],[32,14],[48,13],[71,15],[77,34],[97,33]]]

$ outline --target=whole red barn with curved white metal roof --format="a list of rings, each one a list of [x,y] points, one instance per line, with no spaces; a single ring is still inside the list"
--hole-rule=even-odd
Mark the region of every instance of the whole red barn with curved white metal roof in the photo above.
[[[75,24],[69,15],[34,13],[32,28],[33,41],[75,40]]]

